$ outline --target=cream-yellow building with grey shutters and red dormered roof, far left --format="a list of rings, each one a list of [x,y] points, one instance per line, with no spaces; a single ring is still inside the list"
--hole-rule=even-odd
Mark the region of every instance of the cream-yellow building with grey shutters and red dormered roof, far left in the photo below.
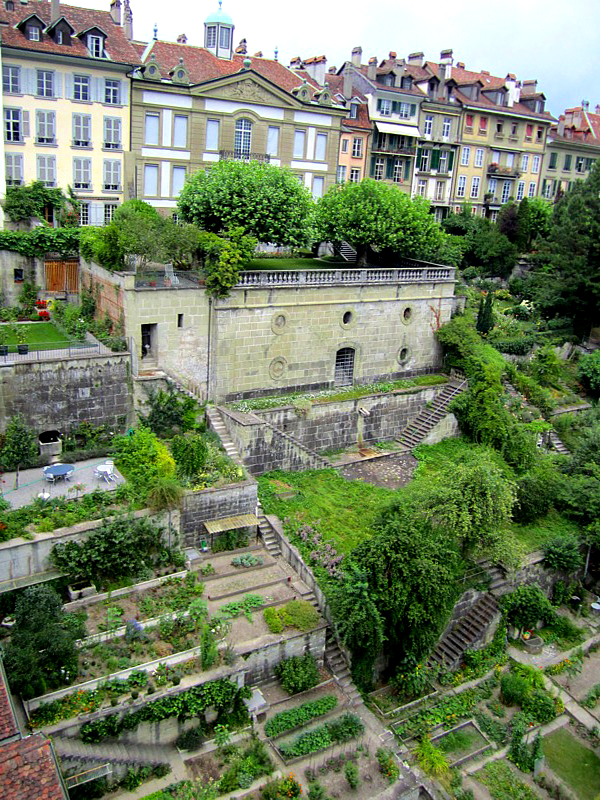
[[[123,201],[129,145],[129,0],[110,11],[5,2],[2,28],[6,185],[41,181],[80,201],[81,223],[102,225]]]

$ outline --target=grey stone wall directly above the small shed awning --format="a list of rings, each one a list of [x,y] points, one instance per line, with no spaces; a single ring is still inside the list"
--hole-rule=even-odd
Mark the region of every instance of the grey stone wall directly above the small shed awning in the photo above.
[[[212,519],[254,514],[258,485],[254,479],[218,489],[186,492],[181,507],[181,533],[186,547],[197,546],[205,536],[202,523]]]

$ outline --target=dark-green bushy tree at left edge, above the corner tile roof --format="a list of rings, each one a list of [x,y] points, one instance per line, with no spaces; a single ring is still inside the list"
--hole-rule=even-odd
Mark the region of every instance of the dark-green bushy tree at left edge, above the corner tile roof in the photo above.
[[[77,673],[75,640],[83,625],[62,610],[49,586],[26,589],[17,599],[15,625],[5,648],[4,662],[13,691],[30,698],[58,688]]]

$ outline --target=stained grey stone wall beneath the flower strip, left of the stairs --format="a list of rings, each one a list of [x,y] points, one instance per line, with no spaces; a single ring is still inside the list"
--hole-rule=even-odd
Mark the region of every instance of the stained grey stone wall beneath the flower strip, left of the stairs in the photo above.
[[[443,388],[402,389],[355,400],[314,403],[306,416],[300,416],[293,406],[254,413],[310,450],[341,450],[356,444],[359,437],[364,442],[393,439]],[[359,409],[368,411],[368,416]],[[259,452],[260,442],[251,441],[248,457]]]

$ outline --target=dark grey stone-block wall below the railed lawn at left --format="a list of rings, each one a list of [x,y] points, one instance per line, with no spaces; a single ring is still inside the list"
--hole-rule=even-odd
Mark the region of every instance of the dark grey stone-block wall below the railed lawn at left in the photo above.
[[[115,354],[0,364],[0,430],[14,414],[38,432],[84,420],[122,427],[132,412],[129,363]]]

